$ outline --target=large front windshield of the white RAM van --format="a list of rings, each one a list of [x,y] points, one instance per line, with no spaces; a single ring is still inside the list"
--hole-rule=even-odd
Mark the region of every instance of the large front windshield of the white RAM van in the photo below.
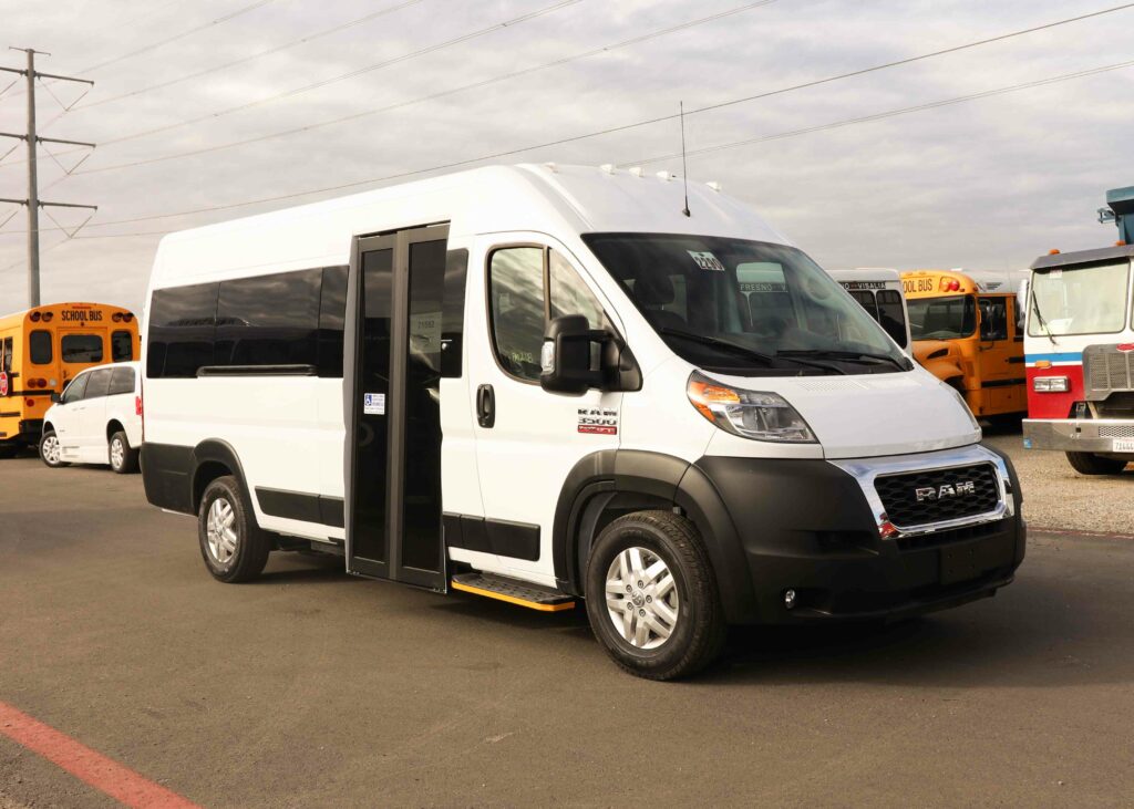
[[[699,367],[762,376],[911,367],[881,326],[794,247],[665,233],[583,239],[670,349]]]

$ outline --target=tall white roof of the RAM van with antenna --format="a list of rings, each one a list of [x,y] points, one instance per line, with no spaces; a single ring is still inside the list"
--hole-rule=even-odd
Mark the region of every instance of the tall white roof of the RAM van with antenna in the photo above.
[[[154,288],[271,266],[346,264],[353,236],[449,222],[449,238],[666,232],[790,244],[751,207],[701,182],[612,167],[492,165],[171,233]]]

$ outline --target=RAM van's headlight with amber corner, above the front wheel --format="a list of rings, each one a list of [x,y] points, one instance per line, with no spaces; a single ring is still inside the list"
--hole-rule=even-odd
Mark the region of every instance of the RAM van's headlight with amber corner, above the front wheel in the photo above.
[[[756,441],[815,443],[803,416],[776,393],[729,388],[696,372],[689,376],[686,393],[697,412],[734,435]]]

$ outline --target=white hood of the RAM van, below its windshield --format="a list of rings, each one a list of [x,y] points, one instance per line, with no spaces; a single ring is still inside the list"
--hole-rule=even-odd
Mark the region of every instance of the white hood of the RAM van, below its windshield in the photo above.
[[[960,398],[924,369],[854,376],[753,378],[710,374],[779,393],[807,421],[823,457],[871,458],[966,446],[981,428]]]

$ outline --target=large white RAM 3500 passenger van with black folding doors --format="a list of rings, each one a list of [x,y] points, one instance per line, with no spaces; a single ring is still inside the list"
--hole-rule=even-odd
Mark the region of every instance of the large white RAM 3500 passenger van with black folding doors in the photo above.
[[[670,679],[727,624],[954,606],[1024,555],[957,394],[669,174],[484,168],[171,235],[143,325],[146,494],[222,581],[315,548],[584,598],[619,665]]]

